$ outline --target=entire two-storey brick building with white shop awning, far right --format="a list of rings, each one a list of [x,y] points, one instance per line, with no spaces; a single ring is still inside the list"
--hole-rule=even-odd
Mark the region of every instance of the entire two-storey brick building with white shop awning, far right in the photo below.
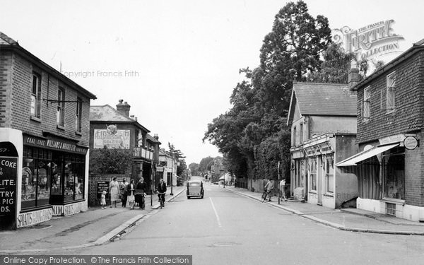
[[[360,153],[336,165],[358,175],[358,208],[424,220],[424,41],[353,86]]]

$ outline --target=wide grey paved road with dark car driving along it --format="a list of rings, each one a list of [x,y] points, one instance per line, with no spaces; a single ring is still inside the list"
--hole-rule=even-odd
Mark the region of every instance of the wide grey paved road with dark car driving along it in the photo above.
[[[419,264],[424,237],[335,230],[222,187],[184,193],[107,245],[52,254],[189,254],[194,264]]]

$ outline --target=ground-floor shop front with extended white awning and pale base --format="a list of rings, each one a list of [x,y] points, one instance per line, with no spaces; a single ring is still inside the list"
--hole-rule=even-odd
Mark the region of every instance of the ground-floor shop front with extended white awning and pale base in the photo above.
[[[358,176],[357,207],[409,220],[424,220],[424,207],[414,206],[422,195],[418,134],[397,134],[365,146],[336,166]]]

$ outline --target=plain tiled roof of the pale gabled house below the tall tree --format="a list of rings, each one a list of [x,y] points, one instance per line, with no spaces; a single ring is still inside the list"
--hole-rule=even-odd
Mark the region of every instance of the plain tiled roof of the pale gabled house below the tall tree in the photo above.
[[[293,94],[302,115],[356,116],[356,94],[346,84],[293,83]]]

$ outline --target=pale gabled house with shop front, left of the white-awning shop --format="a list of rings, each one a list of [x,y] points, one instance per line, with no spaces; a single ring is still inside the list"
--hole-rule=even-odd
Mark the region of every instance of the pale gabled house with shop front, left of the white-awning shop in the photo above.
[[[346,84],[293,83],[287,124],[290,195],[329,208],[358,196],[356,176],[334,167],[358,151],[356,94]]]

